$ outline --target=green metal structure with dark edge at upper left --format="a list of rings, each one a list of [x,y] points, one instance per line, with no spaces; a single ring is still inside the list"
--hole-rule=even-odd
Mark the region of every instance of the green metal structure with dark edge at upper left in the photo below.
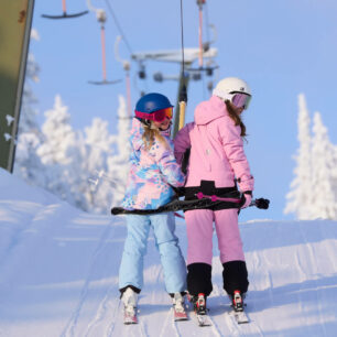
[[[34,0],[0,1],[0,167],[13,171]]]

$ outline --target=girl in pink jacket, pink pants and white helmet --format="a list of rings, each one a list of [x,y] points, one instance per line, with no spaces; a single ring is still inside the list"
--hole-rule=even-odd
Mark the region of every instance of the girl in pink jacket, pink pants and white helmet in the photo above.
[[[185,198],[204,195],[238,196],[240,208],[249,206],[253,177],[243,152],[246,127],[241,112],[251,98],[246,81],[225,78],[214,89],[208,101],[197,106],[194,122],[186,124],[174,140],[174,152],[182,163],[189,149]],[[248,272],[238,226],[238,207],[224,203],[207,209],[185,213],[187,225],[187,290],[195,309],[206,313],[206,298],[213,290],[213,224],[218,238],[224,265],[224,289],[231,296],[235,308],[243,309],[242,295],[248,290]],[[239,295],[239,296],[238,296]]]

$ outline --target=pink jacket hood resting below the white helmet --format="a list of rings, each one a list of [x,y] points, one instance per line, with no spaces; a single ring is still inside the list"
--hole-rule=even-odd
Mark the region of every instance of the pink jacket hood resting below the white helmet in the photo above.
[[[200,102],[194,112],[196,124],[208,124],[213,120],[227,115],[225,101],[217,96],[211,96],[209,100]]]

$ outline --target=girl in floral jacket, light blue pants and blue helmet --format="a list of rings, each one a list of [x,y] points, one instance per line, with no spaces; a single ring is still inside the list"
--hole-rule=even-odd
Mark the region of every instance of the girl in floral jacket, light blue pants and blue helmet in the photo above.
[[[173,106],[161,94],[148,94],[135,106],[130,135],[131,167],[122,206],[155,209],[172,200],[172,186],[184,185],[185,176],[176,163],[170,129]],[[150,228],[160,251],[165,286],[176,311],[184,311],[186,264],[175,236],[173,213],[127,215],[128,236],[119,270],[119,289],[124,311],[132,315],[143,287],[143,257]]]

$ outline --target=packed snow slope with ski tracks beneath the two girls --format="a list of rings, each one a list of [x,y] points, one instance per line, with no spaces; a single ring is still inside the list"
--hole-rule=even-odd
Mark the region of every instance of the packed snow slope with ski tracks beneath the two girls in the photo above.
[[[123,218],[81,213],[0,170],[0,336],[336,336],[337,222],[256,220],[240,229],[250,324],[227,314],[216,244],[213,326],[198,327],[191,312],[174,323],[151,237],[140,324],[123,326]],[[185,253],[183,220],[176,231]]]

